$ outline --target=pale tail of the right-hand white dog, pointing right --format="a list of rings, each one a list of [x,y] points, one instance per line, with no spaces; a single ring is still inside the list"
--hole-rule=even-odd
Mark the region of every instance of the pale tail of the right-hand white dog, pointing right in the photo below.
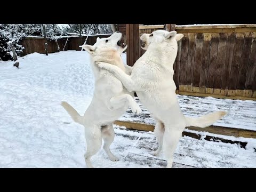
[[[215,111],[213,113],[197,117],[191,118],[186,117],[186,126],[197,126],[197,127],[207,127],[215,123],[218,119],[225,116],[227,114],[226,111]]]

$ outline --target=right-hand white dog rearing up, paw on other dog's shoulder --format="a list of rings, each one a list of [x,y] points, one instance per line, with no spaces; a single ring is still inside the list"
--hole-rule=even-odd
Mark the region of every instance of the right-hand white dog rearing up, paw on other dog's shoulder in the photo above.
[[[135,62],[131,75],[108,63],[96,63],[100,68],[113,72],[128,91],[136,91],[142,105],[153,114],[157,122],[154,133],[158,141],[154,155],[158,155],[163,148],[167,167],[172,167],[174,150],[186,126],[206,127],[226,115],[225,111],[215,111],[199,118],[182,114],[173,81],[177,41],[182,37],[176,31],[165,30],[142,34],[141,47],[147,51]]]

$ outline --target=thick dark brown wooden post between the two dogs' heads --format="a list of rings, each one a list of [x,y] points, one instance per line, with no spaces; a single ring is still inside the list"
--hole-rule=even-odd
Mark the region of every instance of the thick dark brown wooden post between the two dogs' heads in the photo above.
[[[127,65],[133,66],[139,59],[139,24],[126,24],[126,43],[128,45],[126,62]]]

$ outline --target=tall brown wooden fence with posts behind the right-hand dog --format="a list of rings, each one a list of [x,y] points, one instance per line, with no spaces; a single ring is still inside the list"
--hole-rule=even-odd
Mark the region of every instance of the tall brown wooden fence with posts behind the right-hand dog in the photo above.
[[[174,25],[126,24],[127,64],[145,50],[140,34]],[[184,35],[174,63],[177,93],[215,98],[256,100],[256,25],[175,26]]]

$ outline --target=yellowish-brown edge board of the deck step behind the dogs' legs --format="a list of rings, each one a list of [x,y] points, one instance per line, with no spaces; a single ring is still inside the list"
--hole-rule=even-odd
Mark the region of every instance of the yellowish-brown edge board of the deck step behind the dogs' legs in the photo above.
[[[154,125],[126,122],[126,121],[119,121],[119,120],[115,121],[114,124],[119,126],[125,126],[127,129],[134,129],[134,130],[140,130],[140,131],[154,131],[155,129]],[[229,128],[229,127],[223,127],[223,126],[211,125],[205,128],[189,126],[189,127],[186,127],[186,129],[193,130],[193,131],[221,134],[221,135],[229,135],[234,137],[256,138],[256,131]]]

